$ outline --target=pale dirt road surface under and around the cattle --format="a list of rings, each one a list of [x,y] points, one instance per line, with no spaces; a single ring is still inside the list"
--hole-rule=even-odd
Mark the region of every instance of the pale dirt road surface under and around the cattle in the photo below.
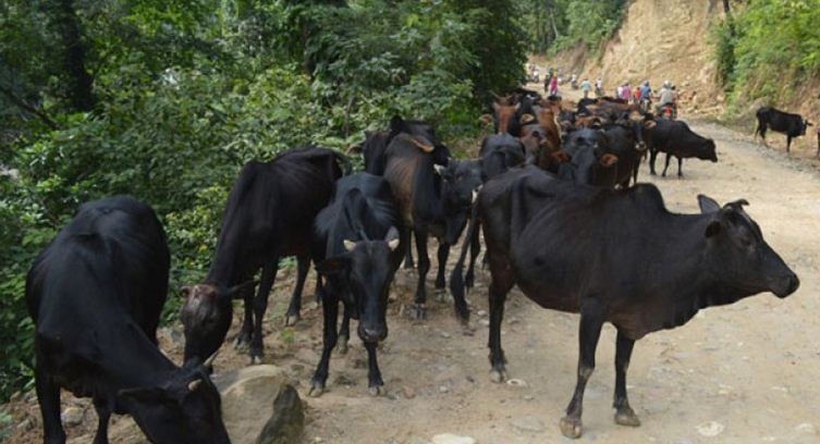
[[[720,161],[686,161],[684,178],[674,176],[676,165],[665,178],[650,176],[644,165],[639,181],[657,184],[666,207],[678,212],[696,212],[698,193],[720,202],[746,198],[747,211],[797,272],[801,286],[783,300],[762,294],[703,310],[683,328],[639,341],[628,372],[631,403],[642,421],[637,429],[612,420],[615,334],[607,325],[586,392],[579,441],[818,443],[820,174],[782,148],[764,148],[747,135],[710,123],[692,122],[692,127],[714,138]],[[478,286],[468,297],[473,335],[463,333],[449,298],[433,296],[433,278],[430,273],[429,319],[419,322],[405,312],[416,275],[399,272],[388,318],[390,336],[379,351],[388,394],[378,398],[367,394],[367,356],[356,337],[345,356],[333,355],[328,392],[307,397],[321,351],[321,310],[305,310],[295,328],[281,326],[293,281],[279,281],[271,296],[266,362],[289,369],[299,383],[308,407],[304,442],[420,444],[440,433],[473,436],[481,444],[571,442],[561,435],[558,421],[575,384],[577,316],[538,308],[514,289],[502,341],[510,378],[519,383],[493,384],[486,347],[489,274],[479,272]],[[313,283],[306,295],[313,295]],[[234,325],[232,334],[238,319]],[[162,346],[176,361],[181,345],[179,331],[163,331]],[[245,365],[247,358],[225,344],[217,369]],[[28,417],[33,429],[19,430],[9,442],[41,440],[36,404],[17,402],[12,407],[15,423]],[[118,434],[124,433],[123,418],[115,422],[113,443],[140,442]],[[71,442],[90,442],[87,433],[95,424],[88,409],[82,424],[69,430]]]

